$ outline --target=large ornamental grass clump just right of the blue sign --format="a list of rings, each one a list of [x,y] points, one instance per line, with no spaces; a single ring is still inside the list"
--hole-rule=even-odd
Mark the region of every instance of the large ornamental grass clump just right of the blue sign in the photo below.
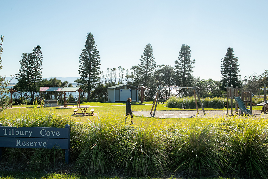
[[[115,169],[121,150],[120,135],[127,132],[125,121],[117,118],[119,116],[106,114],[84,124],[81,153],[75,162],[78,170],[104,174]]]

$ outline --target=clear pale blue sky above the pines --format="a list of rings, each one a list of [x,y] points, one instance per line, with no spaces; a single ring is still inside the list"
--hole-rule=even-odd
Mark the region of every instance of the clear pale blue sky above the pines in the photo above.
[[[268,69],[268,1],[0,1],[1,75],[15,75],[22,53],[40,45],[43,77],[79,77],[88,33],[95,38],[101,70],[130,69],[147,44],[157,65],[171,65],[183,43],[195,59],[193,76],[221,79],[227,48],[239,58],[240,75]]]

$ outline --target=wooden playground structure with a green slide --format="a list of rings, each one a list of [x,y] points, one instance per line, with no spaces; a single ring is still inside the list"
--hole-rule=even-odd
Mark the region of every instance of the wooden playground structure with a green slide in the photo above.
[[[263,109],[261,112],[265,112],[267,109],[265,105],[267,104],[266,101],[266,85],[264,85],[264,94],[263,96],[258,95],[258,97],[252,97],[252,94],[260,94],[260,93],[252,93],[252,90],[250,91],[243,91],[243,88],[233,88],[233,86],[229,87],[227,84],[225,85],[226,87],[226,114],[229,115],[229,99],[231,100],[231,115],[233,115],[233,99],[236,101],[236,106],[235,106],[235,114],[238,113],[238,107],[240,109],[240,114],[251,114],[252,111],[252,99],[258,99],[258,98],[263,98],[264,102],[256,105],[261,105],[263,106]],[[256,95],[257,96],[257,95]],[[240,98],[240,99],[238,99]],[[243,104],[242,104],[242,103]],[[250,103],[250,109],[248,111],[247,109],[247,103]]]

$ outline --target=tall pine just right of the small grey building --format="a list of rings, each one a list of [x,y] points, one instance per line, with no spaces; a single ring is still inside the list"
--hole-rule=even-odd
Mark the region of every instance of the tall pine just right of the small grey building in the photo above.
[[[142,77],[142,83],[144,86],[149,85],[148,80],[152,77],[152,73],[156,68],[155,57],[153,56],[153,47],[151,44],[147,44],[140,57],[140,74]]]

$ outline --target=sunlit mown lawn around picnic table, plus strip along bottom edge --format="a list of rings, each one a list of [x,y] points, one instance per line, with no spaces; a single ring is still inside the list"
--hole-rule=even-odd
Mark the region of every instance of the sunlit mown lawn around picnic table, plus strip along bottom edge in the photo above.
[[[102,116],[107,116],[107,114],[116,115],[117,118],[125,118],[125,104],[126,103],[110,103],[110,102],[96,102],[96,103],[81,103],[81,105],[90,105],[90,108],[95,109],[94,116],[72,116],[73,110],[75,108],[60,108],[60,107],[47,107],[42,108],[45,112],[48,113],[55,113],[57,115],[67,116],[73,121],[79,121],[82,123],[87,123],[88,121],[98,120],[98,117],[101,118]],[[132,110],[139,111],[139,110],[151,110],[153,102],[146,101],[145,103],[132,103]],[[36,106],[23,106],[23,105],[13,105],[12,109],[7,109],[0,113],[0,122],[1,117],[14,118],[20,116],[23,113],[29,112],[32,108],[36,108]],[[167,108],[165,104],[159,103],[157,105],[157,110],[172,110],[172,108]],[[184,109],[175,109],[175,110],[184,110]],[[195,109],[188,109],[188,110],[195,110]],[[205,110],[212,110],[212,109],[205,109]],[[217,109],[217,110],[224,110],[224,109]],[[254,106],[253,110],[261,110],[261,107]],[[32,110],[35,112],[36,110]],[[135,114],[135,112],[134,112]],[[134,116],[134,122],[136,123],[135,126],[140,124],[145,126],[150,125],[176,125],[182,123],[189,123],[192,118],[166,118],[166,119],[158,119],[158,118],[145,118],[145,117],[138,117]],[[206,120],[215,120],[215,119],[206,119]],[[7,171],[0,171],[0,178],[100,178],[100,179],[117,179],[122,177],[104,177],[104,176],[84,176],[80,174],[46,174],[45,172],[7,172]],[[137,177],[123,177],[123,178],[137,178]],[[122,179],[123,179],[122,178]],[[147,177],[149,178],[149,177]],[[172,177],[176,178],[176,177]],[[139,178],[141,179],[141,178]],[[210,178],[212,179],[212,178]],[[221,178],[219,178],[221,179]],[[222,178],[227,179],[227,178]]]

